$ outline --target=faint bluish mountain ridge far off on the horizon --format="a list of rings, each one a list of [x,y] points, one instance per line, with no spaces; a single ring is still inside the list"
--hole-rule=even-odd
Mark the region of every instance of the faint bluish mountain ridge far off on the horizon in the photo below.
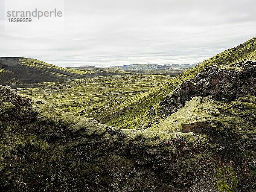
[[[190,69],[197,66],[196,64],[129,64],[122,66],[113,66],[108,68],[120,69],[120,70],[169,70],[169,69]]]

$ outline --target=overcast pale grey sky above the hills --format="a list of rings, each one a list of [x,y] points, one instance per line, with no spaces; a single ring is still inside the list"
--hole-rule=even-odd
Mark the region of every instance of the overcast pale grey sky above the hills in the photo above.
[[[12,1],[0,0],[0,56],[61,67],[194,64],[256,36],[255,0]],[[63,17],[10,27],[19,3]]]

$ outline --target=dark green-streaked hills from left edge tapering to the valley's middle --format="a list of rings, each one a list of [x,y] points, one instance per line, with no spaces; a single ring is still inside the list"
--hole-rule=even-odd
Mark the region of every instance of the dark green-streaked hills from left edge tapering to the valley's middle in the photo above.
[[[31,58],[0,57],[0,84],[19,87],[47,81],[63,81],[84,77],[128,74],[132,72],[115,69],[70,69],[47,64]]]

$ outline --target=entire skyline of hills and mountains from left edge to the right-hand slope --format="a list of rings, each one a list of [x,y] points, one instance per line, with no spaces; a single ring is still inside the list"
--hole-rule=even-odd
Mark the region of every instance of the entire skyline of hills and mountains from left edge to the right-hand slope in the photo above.
[[[142,73],[143,70],[170,70],[170,73],[180,74],[195,65],[133,64],[116,67],[63,68],[32,58],[0,57],[0,84],[19,87],[38,82]]]

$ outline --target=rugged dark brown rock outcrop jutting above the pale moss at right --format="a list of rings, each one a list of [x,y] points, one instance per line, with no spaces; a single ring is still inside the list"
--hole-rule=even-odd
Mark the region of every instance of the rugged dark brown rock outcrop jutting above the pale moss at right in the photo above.
[[[195,96],[212,96],[216,101],[232,101],[241,96],[256,95],[256,61],[241,61],[218,70],[211,66],[183,83],[160,103],[162,114],[175,113]]]

